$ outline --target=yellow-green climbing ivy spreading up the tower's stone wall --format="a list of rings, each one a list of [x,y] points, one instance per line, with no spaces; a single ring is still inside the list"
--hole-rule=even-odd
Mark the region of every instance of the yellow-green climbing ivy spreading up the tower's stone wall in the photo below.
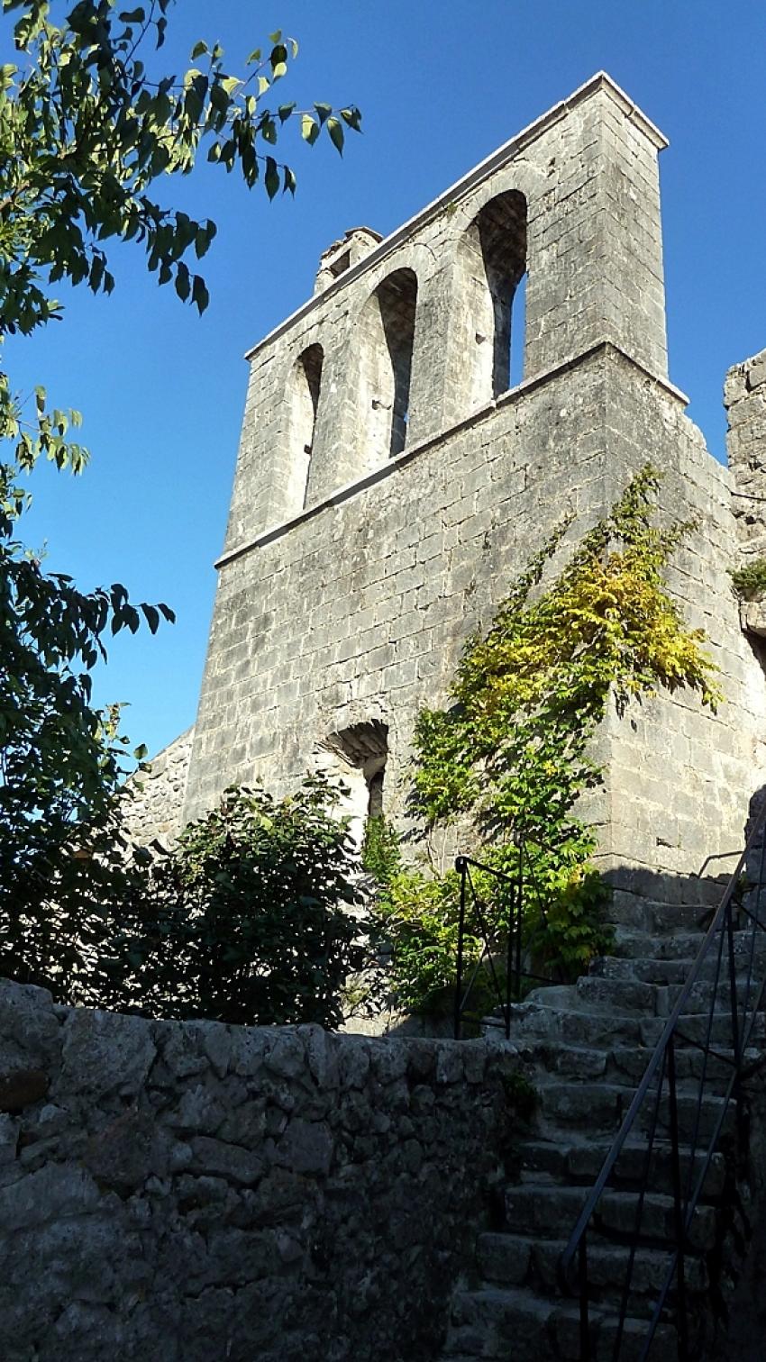
[[[684,625],[665,588],[665,567],[694,524],[656,523],[658,485],[647,464],[552,575],[572,518],[560,522],[489,628],[468,639],[447,704],[423,710],[414,731],[413,802],[425,832],[458,824],[465,847],[468,828],[474,854],[510,874],[523,839],[540,895],[530,898],[527,949],[564,978],[609,940],[596,829],[577,810],[602,779],[592,740],[609,703],[623,714],[631,700],[680,686],[713,710],[722,699],[702,631]],[[491,883],[482,895],[500,943],[507,906]],[[454,978],[457,876],[399,868],[378,911],[401,1002],[438,1005]],[[469,932],[476,956],[476,923]]]

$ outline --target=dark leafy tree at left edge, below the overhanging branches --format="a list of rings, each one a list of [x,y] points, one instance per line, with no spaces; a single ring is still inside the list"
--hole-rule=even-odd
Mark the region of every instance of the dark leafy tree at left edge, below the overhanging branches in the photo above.
[[[45,573],[15,537],[26,492],[14,473],[0,466],[0,921],[34,911],[78,824],[112,817],[129,750],[119,707],[91,706],[105,633],[173,618],[166,605],[136,609],[117,583],[83,594]]]

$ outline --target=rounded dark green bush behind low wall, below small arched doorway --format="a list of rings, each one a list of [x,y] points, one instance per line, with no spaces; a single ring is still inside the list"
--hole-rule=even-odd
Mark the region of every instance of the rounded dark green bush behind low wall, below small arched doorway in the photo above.
[[[342,985],[363,960],[349,913],[361,902],[358,859],[338,793],[322,776],[279,802],[228,791],[155,873],[150,932],[144,914],[116,923],[104,1000],[161,1016],[338,1026]]]

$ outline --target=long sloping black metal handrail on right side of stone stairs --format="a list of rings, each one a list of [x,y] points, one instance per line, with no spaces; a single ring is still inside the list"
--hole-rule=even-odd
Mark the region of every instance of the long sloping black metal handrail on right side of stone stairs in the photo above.
[[[740,1156],[746,1152],[747,1141],[747,1128],[746,1128],[746,1103],[744,1103],[744,1090],[743,1081],[747,1077],[747,1069],[743,1064],[744,1054],[750,1045],[752,1035],[752,1028],[755,1026],[755,1019],[761,1011],[761,1004],[766,992],[766,968],[761,970],[761,979],[754,978],[754,971],[756,970],[756,941],[762,933],[766,933],[766,921],[763,921],[761,913],[761,902],[765,889],[765,858],[766,858],[766,804],[758,817],[754,820],[750,836],[744,851],[741,853],[737,866],[726,885],[724,896],[714,913],[713,921],[702,940],[699,951],[694,959],[691,970],[684,981],[681,992],[676,998],[675,1007],[672,1008],[668,1020],[662,1028],[662,1034],[652,1053],[652,1057],[646,1065],[643,1077],[635,1091],[635,1095],[630,1103],[626,1117],[622,1122],[619,1133],[604,1159],[601,1171],[596,1178],[596,1182],[585,1201],[585,1205],[578,1216],[577,1224],[572,1230],[567,1248],[564,1249],[560,1263],[559,1263],[559,1280],[563,1290],[567,1294],[575,1294],[579,1297],[579,1355],[581,1362],[590,1362],[593,1357],[592,1351],[592,1331],[590,1331],[590,1297],[589,1297],[589,1280],[587,1280],[587,1234],[592,1229],[592,1222],[598,1224],[598,1205],[604,1192],[609,1186],[609,1181],[616,1171],[616,1165],[620,1154],[626,1145],[626,1141],[631,1132],[637,1128],[639,1117],[642,1117],[645,1109],[649,1109],[649,1132],[646,1135],[646,1145],[643,1154],[643,1171],[638,1185],[634,1188],[637,1196],[635,1204],[635,1219],[632,1233],[622,1237],[623,1248],[626,1249],[626,1276],[620,1297],[620,1310],[617,1318],[617,1328],[615,1333],[615,1346],[612,1351],[612,1362],[619,1362],[622,1344],[624,1339],[624,1327],[628,1317],[628,1308],[631,1301],[631,1286],[632,1273],[635,1265],[635,1256],[642,1244],[650,1244],[652,1248],[657,1248],[656,1235],[652,1237],[643,1231],[643,1211],[646,1205],[646,1197],[652,1193],[652,1160],[657,1140],[657,1132],[662,1125],[665,1125],[667,1136],[669,1137],[669,1154],[671,1154],[671,1184],[672,1184],[672,1199],[673,1199],[673,1231],[672,1237],[665,1238],[664,1246],[669,1254],[669,1261],[667,1267],[665,1276],[661,1282],[661,1287],[657,1293],[652,1314],[646,1320],[646,1336],[638,1355],[638,1362],[646,1362],[649,1358],[652,1344],[657,1332],[657,1325],[668,1302],[671,1294],[673,1279],[676,1283],[675,1291],[675,1325],[677,1333],[677,1355],[679,1362],[688,1362],[690,1352],[690,1325],[691,1316],[688,1309],[688,1291],[686,1280],[686,1258],[690,1249],[690,1230],[694,1219],[695,1209],[698,1207],[702,1189],[710,1169],[713,1155],[717,1151],[721,1132],[724,1129],[724,1122],[726,1120],[732,1099],[736,1103],[736,1130],[737,1130],[737,1148]],[[761,842],[758,840],[761,838]],[[743,936],[746,937],[744,949],[744,964],[746,964],[746,978],[744,982],[740,979],[737,982],[737,960],[735,951],[735,899],[741,891],[741,876],[751,869],[751,861],[754,851],[758,850],[758,876],[754,884],[748,884],[746,902],[737,904],[737,913],[746,919],[746,929]],[[762,937],[761,937],[762,938]],[[725,970],[724,970],[725,957]],[[705,1019],[703,1035],[705,1039],[684,1035],[680,1026],[680,1019],[684,1016],[684,1009],[688,1008],[690,997],[695,985],[703,982],[703,971],[709,962],[714,962],[714,978],[711,981],[710,990],[710,1005],[707,1009],[707,1016]],[[718,1008],[721,1001],[721,977],[724,970],[724,987],[728,987],[728,1007],[726,1012]],[[705,1012],[698,1013],[705,1017]],[[724,1049],[724,1042],[717,1041],[713,1045],[713,1028],[716,1016],[728,1016],[731,1022],[731,1053]],[[679,1043],[690,1046],[702,1051],[703,1062],[699,1075],[699,1084],[696,1092],[696,1106],[692,1109],[692,1124],[691,1135],[688,1137],[681,1136],[679,1124],[679,1086],[677,1086],[677,1047]],[[702,1147],[701,1130],[702,1130],[702,1111],[705,1096],[710,1094],[711,1079],[710,1079],[710,1060],[718,1061],[731,1069],[731,1077],[725,1086],[725,1091],[721,1094],[716,1092],[720,1099],[720,1110],[717,1120],[713,1124],[713,1132],[709,1137],[707,1145]],[[660,1114],[662,1110],[662,1098],[667,1096],[667,1121],[661,1121]],[[681,1170],[681,1152],[688,1158],[688,1170],[686,1178]],[[695,1170],[699,1171],[695,1177]],[[577,1258],[577,1269],[574,1268]],[[572,1280],[577,1278],[577,1280]],[[635,1346],[635,1339],[632,1340]],[[602,1354],[600,1352],[600,1357]],[[631,1354],[634,1355],[634,1354]]]

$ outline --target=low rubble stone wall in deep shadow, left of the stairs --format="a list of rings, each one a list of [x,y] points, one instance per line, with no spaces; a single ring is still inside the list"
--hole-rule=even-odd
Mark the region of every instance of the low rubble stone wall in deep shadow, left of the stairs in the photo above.
[[[515,1051],[0,986],[3,1362],[438,1355]]]

